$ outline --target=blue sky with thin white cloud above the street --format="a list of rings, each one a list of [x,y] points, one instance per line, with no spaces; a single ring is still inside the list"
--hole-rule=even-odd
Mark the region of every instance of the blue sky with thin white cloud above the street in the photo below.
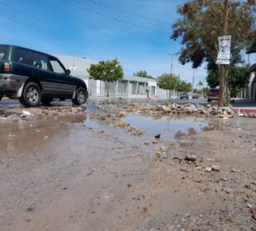
[[[181,48],[169,36],[171,24],[178,18],[177,6],[182,3],[181,0],[0,0],[1,43],[96,61],[117,58],[127,74],[145,69],[157,77],[170,72],[168,54]],[[191,65],[179,64],[178,56],[173,57],[173,73],[192,82]],[[196,83],[205,81],[206,70],[198,68],[195,77]]]

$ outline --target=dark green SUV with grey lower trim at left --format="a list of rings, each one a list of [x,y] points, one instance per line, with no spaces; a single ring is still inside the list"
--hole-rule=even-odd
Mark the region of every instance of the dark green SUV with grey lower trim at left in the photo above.
[[[76,105],[88,99],[88,87],[69,75],[59,59],[16,45],[0,45],[0,100],[18,98],[25,106],[49,104],[53,98],[72,99]]]

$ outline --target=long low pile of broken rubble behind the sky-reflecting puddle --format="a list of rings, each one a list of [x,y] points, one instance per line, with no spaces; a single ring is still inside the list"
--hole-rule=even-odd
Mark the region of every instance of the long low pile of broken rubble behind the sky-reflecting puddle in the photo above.
[[[168,105],[150,105],[132,103],[130,105],[115,105],[117,108],[122,108],[127,112],[136,112],[153,115],[193,115],[196,117],[220,117],[220,118],[233,118],[235,112],[230,107],[218,108],[217,106],[194,105],[194,104],[176,104],[168,103]]]

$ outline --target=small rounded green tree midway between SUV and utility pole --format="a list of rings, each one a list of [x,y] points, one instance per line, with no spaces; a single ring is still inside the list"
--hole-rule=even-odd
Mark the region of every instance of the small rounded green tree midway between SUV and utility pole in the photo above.
[[[178,77],[172,73],[163,73],[157,81],[160,88],[169,92],[168,97],[171,97],[171,90],[176,90],[178,85]]]

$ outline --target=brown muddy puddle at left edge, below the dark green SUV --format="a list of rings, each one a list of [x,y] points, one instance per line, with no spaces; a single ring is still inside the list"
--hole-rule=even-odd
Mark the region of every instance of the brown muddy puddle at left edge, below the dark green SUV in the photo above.
[[[30,120],[0,120],[0,156],[35,152],[47,145],[56,134],[68,130],[75,123],[82,123],[84,115],[58,116]]]

